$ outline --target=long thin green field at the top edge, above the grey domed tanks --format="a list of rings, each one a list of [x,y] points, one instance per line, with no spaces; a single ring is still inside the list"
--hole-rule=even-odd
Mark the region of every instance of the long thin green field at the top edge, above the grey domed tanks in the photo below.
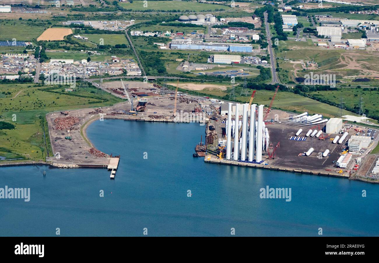
[[[216,9],[231,9],[228,6],[224,5],[211,5],[211,4],[202,4],[196,2],[187,2],[187,1],[148,1],[147,7],[144,7],[143,1],[133,1],[133,3],[119,3],[125,9],[132,9],[133,11],[139,10],[180,10],[188,12],[199,12],[199,11],[215,11]]]

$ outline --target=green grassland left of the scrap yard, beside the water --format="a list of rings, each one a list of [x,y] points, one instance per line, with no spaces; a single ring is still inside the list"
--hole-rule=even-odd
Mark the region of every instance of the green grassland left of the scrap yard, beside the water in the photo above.
[[[1,119],[16,126],[14,130],[0,130],[0,156],[44,160],[47,152],[43,140],[42,124],[44,124],[47,135],[47,149],[50,149],[49,153],[51,154],[45,119],[46,113],[113,105],[121,101],[121,99],[107,92],[98,92],[95,87],[82,88],[75,92],[64,92],[63,86],[56,86],[53,91],[60,92],[59,94],[42,90],[48,87],[51,86],[38,87],[34,84],[0,85],[0,92],[5,93],[5,96],[0,98]],[[16,116],[16,121],[13,121],[14,116]]]

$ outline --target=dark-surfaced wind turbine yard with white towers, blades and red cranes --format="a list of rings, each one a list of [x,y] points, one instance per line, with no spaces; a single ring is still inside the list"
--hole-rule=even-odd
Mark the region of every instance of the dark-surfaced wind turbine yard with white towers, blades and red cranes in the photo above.
[[[378,143],[376,130],[364,124],[348,124],[340,118],[325,119],[320,114],[295,115],[271,109],[275,95],[268,108],[263,109],[261,105],[260,120],[257,105],[252,104],[254,94],[255,91],[250,103],[239,105],[239,110],[236,110],[238,105],[235,103],[231,103],[233,106],[227,110],[225,103],[220,114],[209,119],[205,141],[207,153],[203,155],[205,162],[377,179],[371,174],[372,158],[369,158]],[[228,122],[231,124],[229,129]],[[262,122],[261,127],[259,122]],[[262,131],[260,135],[259,131]],[[228,133],[231,133],[229,139]],[[239,147],[235,149],[235,145]]]

